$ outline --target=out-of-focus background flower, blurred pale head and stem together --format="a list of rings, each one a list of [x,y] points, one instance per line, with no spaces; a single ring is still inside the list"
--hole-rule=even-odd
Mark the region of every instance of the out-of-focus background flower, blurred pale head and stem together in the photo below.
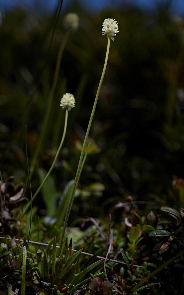
[[[56,86],[57,86],[57,82],[58,82],[59,69],[60,69],[60,65],[61,65],[61,59],[62,59],[62,54],[63,54],[63,51],[64,51],[64,47],[65,47],[65,45],[67,43],[70,32],[77,30],[78,26],[79,26],[79,17],[77,16],[77,14],[68,13],[64,18],[64,27],[65,27],[65,29],[67,31],[66,31],[66,33],[64,35],[63,41],[62,41],[62,43],[60,45],[59,52],[58,52],[58,55],[57,55],[57,61],[56,61],[56,67],[55,67],[55,72],[54,72],[53,83],[52,83],[51,91],[50,91],[50,94],[49,94],[49,102],[48,102],[47,111],[46,111],[46,114],[45,114],[45,117],[44,117],[42,132],[41,132],[41,134],[39,136],[37,149],[36,149],[36,151],[34,153],[34,157],[33,157],[33,160],[32,160],[32,165],[31,165],[31,168],[30,168],[30,178],[32,178],[34,168],[35,168],[35,165],[36,165],[36,161],[37,161],[37,157],[38,157],[40,149],[42,147],[44,136],[45,136],[45,133],[46,133],[46,130],[47,130],[47,124],[49,122],[49,116],[50,116],[50,112],[51,112],[51,109],[52,109],[52,102],[53,102],[53,99],[54,99],[54,94],[55,94],[55,90],[56,90]]]

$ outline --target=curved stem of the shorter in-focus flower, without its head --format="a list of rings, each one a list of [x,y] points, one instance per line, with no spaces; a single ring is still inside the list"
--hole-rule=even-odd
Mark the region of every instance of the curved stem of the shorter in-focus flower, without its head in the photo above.
[[[37,194],[39,193],[39,191],[42,189],[45,181],[47,180],[47,178],[49,177],[50,173],[52,172],[55,164],[56,164],[56,161],[57,161],[57,158],[59,156],[59,153],[60,153],[60,150],[62,148],[62,145],[63,145],[63,142],[64,142],[64,138],[65,138],[65,135],[66,135],[66,130],[67,130],[67,121],[68,121],[68,110],[66,109],[65,111],[65,120],[64,120],[64,130],[63,130],[63,136],[62,136],[62,140],[60,142],[60,145],[59,145],[59,148],[57,150],[57,153],[55,155],[55,158],[54,158],[54,161],[52,163],[52,166],[51,168],[49,169],[49,172],[47,173],[47,175],[45,176],[44,180],[42,181],[42,183],[40,184],[39,188],[37,189],[36,193],[34,194],[34,196],[32,197],[32,202],[34,201],[34,199],[36,198]],[[24,212],[23,212],[23,215],[27,212],[27,210],[29,209],[29,206],[30,206],[30,201],[29,203],[26,205],[25,209],[24,209]]]

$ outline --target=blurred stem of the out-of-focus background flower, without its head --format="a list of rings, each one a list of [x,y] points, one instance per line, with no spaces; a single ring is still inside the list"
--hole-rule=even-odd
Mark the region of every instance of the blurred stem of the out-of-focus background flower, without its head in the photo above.
[[[52,88],[51,88],[50,95],[49,95],[49,102],[48,102],[47,111],[46,111],[46,114],[45,114],[45,117],[44,117],[42,132],[41,132],[41,135],[39,137],[37,149],[36,149],[36,151],[34,153],[34,157],[33,157],[33,160],[32,160],[32,165],[31,165],[31,168],[30,168],[30,170],[31,170],[30,171],[30,178],[32,178],[34,168],[35,168],[35,165],[36,165],[36,161],[37,161],[37,157],[38,157],[40,149],[42,147],[43,139],[44,139],[44,136],[45,136],[45,133],[46,133],[46,130],[47,130],[47,124],[48,124],[50,112],[51,112],[51,109],[52,109],[52,102],[53,102],[53,98],[54,98],[54,93],[55,93],[55,90],[56,90],[58,77],[59,77],[59,69],[60,69],[60,65],[61,65],[61,58],[62,58],[64,47],[65,47],[66,42],[67,42],[68,37],[69,37],[69,33],[70,33],[70,31],[67,31],[66,34],[64,35],[64,39],[63,39],[63,41],[61,43],[61,46],[59,48],[59,52],[58,52],[58,55],[57,55],[56,68],[55,68],[55,72],[54,72]]]

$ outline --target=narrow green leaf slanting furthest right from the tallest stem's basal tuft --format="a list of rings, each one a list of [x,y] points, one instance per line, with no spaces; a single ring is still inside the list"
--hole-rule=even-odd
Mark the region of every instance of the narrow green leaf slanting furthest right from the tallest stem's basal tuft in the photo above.
[[[102,268],[103,264],[104,264],[104,259],[100,259],[99,261],[96,261],[92,265],[85,268],[84,271],[81,271],[74,277],[74,279],[72,280],[72,285],[77,285],[81,283],[81,281],[84,280],[84,278],[86,278],[89,275],[89,273],[96,272],[100,268]]]

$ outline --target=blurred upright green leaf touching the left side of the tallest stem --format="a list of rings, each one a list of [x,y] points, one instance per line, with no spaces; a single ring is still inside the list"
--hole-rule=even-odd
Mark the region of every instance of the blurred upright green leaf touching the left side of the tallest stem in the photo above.
[[[63,224],[64,224],[64,219],[65,219],[68,204],[69,204],[69,197],[70,197],[70,195],[72,193],[73,185],[74,185],[74,180],[71,180],[67,184],[67,186],[66,186],[66,188],[65,188],[65,190],[64,190],[64,192],[62,194],[62,197],[61,197],[62,203],[61,203],[61,205],[59,207],[59,210],[57,211],[57,215],[56,215],[56,219],[57,219],[56,226],[58,228],[62,227]]]

